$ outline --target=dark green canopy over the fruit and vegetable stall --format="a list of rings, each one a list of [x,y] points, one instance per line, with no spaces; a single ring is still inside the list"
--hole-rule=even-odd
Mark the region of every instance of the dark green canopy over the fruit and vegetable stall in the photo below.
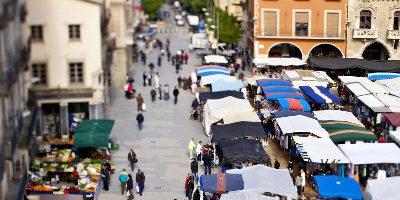
[[[83,120],[74,135],[74,147],[108,147],[114,120]]]

